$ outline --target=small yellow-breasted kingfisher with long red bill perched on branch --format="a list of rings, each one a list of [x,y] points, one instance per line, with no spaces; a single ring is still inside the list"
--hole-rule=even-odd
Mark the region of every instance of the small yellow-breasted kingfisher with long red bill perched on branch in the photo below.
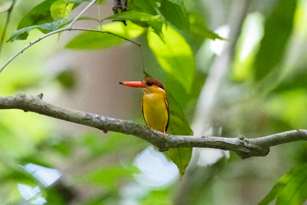
[[[169,126],[169,101],[163,83],[146,78],[142,81],[119,81],[119,84],[142,89],[144,96],[141,109],[147,128],[162,132],[164,138]]]

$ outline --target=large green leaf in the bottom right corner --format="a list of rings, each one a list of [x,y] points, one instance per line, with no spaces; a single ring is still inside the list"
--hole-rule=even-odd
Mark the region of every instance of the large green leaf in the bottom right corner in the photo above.
[[[266,205],[274,199],[276,205],[302,204],[307,199],[307,164],[299,164],[282,176],[259,205]]]

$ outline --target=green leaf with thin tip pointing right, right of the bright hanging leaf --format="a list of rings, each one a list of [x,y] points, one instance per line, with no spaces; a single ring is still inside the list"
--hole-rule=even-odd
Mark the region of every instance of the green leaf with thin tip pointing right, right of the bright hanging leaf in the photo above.
[[[204,23],[203,19],[198,14],[189,14],[189,23],[190,23],[190,33],[197,38],[210,38],[212,40],[224,38],[220,37],[218,34],[209,30]]]

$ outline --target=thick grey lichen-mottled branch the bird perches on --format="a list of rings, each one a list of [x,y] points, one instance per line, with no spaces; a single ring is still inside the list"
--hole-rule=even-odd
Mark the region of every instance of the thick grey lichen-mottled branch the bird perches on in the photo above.
[[[243,135],[236,138],[165,135],[163,139],[161,132],[147,129],[144,125],[132,121],[119,120],[89,112],[59,107],[43,101],[42,97],[43,94],[27,96],[23,93],[0,97],[0,109],[21,109],[25,112],[36,112],[41,115],[83,124],[100,129],[105,133],[112,131],[134,135],[153,144],[160,151],[178,147],[216,148],[233,151],[242,159],[245,159],[252,156],[266,156],[271,146],[298,140],[307,140],[307,130],[305,129],[292,130],[252,139],[247,139]]]

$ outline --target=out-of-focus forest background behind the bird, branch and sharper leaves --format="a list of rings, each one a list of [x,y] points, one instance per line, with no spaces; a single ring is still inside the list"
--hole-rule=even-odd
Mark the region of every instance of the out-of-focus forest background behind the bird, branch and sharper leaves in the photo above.
[[[41,2],[17,0],[5,41]],[[10,4],[0,0],[0,11]],[[70,17],[87,4],[82,2]],[[254,138],[306,128],[307,1],[184,4],[227,39],[195,37],[170,25],[192,51],[195,66],[186,67],[192,73],[191,89],[161,67],[146,31],[134,41],[142,44],[146,73],[165,84],[194,135]],[[112,7],[113,1],[105,0],[100,14],[112,15]],[[95,4],[85,16],[97,18],[97,11]],[[0,13],[1,33],[6,16]],[[99,27],[95,21],[75,25]],[[55,34],[21,53],[0,74],[0,96],[43,93],[43,100],[52,104],[145,124],[142,92],[118,84],[144,78],[139,47],[125,41],[76,48],[73,40],[81,33]],[[27,40],[4,43],[0,64],[41,35],[32,30]],[[0,110],[0,204],[258,204],[280,177],[306,162],[306,148],[297,141],[245,160],[233,152],[193,148],[180,180],[172,161],[135,136]]]

